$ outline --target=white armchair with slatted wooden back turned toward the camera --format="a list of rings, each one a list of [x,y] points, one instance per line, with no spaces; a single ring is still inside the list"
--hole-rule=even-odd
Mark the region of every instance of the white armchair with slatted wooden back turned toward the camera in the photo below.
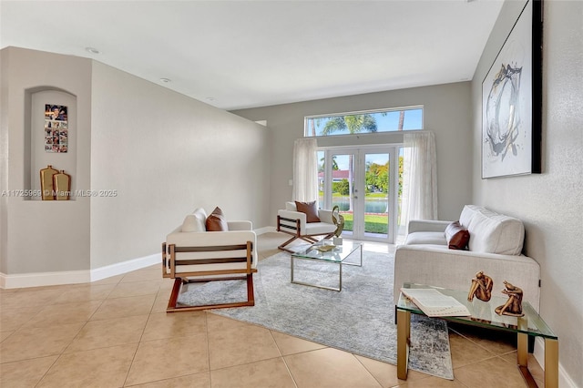
[[[228,221],[229,230],[207,231],[204,209],[189,214],[162,243],[162,276],[174,279],[166,311],[196,311],[252,306],[253,272],[257,272],[257,236],[251,221]],[[247,281],[247,301],[177,306],[180,288],[189,281]]]

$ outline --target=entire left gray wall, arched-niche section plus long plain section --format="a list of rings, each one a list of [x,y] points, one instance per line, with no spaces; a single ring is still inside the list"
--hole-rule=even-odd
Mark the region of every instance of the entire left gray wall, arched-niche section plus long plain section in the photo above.
[[[117,190],[69,201],[0,198],[3,274],[83,271],[159,253],[197,207],[269,225],[267,128],[85,58],[7,47],[0,64],[0,190],[37,179],[28,172],[26,90],[46,87],[77,97],[77,189]]]

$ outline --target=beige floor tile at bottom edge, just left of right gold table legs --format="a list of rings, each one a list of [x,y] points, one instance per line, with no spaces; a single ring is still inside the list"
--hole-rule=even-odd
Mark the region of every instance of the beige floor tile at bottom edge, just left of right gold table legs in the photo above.
[[[468,388],[498,387],[522,388],[525,386],[516,365],[494,357],[471,363],[454,371],[455,380]]]

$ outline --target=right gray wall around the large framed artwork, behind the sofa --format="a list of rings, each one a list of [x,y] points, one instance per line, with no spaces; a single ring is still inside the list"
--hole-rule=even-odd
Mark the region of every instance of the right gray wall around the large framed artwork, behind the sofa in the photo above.
[[[506,2],[472,82],[473,150],[481,152],[482,79],[523,1]],[[525,222],[526,254],[540,264],[540,313],[559,338],[559,362],[583,386],[583,2],[545,1],[543,173],[480,179],[474,158],[474,202]]]

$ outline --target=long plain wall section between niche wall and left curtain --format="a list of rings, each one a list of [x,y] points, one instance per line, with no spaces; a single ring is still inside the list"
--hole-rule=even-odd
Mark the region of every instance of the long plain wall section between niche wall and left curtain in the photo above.
[[[150,255],[187,213],[269,225],[270,131],[110,66],[93,66],[91,266]]]

